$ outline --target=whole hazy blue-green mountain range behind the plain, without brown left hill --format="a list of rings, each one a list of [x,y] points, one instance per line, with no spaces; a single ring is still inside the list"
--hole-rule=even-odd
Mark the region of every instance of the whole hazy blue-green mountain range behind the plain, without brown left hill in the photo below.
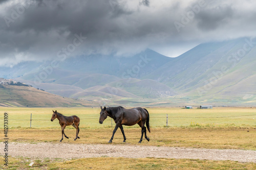
[[[0,77],[101,105],[256,104],[256,45],[251,37],[199,44],[170,58],[77,56],[0,67]]]

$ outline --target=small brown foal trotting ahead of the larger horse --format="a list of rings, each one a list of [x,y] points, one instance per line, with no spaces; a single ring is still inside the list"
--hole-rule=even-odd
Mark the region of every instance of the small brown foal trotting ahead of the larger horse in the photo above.
[[[66,138],[69,138],[64,133],[64,129],[66,128],[66,126],[69,126],[69,125],[72,125],[74,128],[76,128],[76,138],[74,140],[76,140],[77,138],[80,139],[80,137],[78,137],[78,133],[79,133],[78,126],[80,124],[80,118],[78,116],[75,116],[75,115],[65,116],[65,115],[62,115],[61,113],[58,113],[57,110],[55,110],[53,111],[51,121],[53,122],[55,118],[59,120],[59,125],[61,126],[62,138],[60,139],[60,142],[63,140],[63,134],[65,135]]]

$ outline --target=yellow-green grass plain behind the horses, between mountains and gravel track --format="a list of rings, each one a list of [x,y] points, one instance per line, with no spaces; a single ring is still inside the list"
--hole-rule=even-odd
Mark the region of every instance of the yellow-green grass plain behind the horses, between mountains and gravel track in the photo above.
[[[0,108],[8,113],[9,140],[16,142],[58,142],[61,130],[58,120],[50,121],[52,108]],[[68,126],[65,133],[68,143],[106,143],[115,127],[107,118],[103,125],[98,123],[99,108],[54,108],[65,115],[80,117],[80,139],[73,141],[75,129]],[[255,108],[147,108],[150,112],[152,133],[150,142],[144,145],[170,147],[194,147],[214,149],[256,150],[256,109]],[[32,113],[32,128],[30,127]],[[168,114],[168,126],[166,126]],[[4,117],[4,114],[3,114]],[[3,127],[3,121],[1,121]],[[126,143],[137,144],[141,129],[138,125],[124,126]],[[4,135],[4,134],[3,134]],[[122,143],[118,130],[113,143]],[[3,140],[3,139],[2,139]],[[1,139],[0,139],[1,141]]]

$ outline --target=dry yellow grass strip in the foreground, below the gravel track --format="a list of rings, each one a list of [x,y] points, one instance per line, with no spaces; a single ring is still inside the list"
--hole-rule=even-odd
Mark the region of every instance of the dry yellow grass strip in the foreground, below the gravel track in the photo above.
[[[0,158],[2,162],[3,158]],[[199,159],[163,159],[163,158],[82,158],[74,160],[30,159],[26,157],[9,158],[9,167],[0,164],[3,169],[256,169],[255,163],[237,161],[211,161]],[[29,166],[34,162],[33,167]]]

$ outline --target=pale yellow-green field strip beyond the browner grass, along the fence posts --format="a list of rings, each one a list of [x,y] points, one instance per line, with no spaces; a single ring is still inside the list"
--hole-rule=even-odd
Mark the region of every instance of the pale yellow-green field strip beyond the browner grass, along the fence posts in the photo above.
[[[165,127],[168,115],[168,127],[256,127],[256,108],[214,108],[214,109],[182,109],[182,108],[146,108],[150,113],[152,128]],[[98,123],[100,108],[0,108],[2,119],[8,113],[9,128],[29,128],[32,113],[32,128],[59,128],[58,120],[51,122],[52,110],[70,116],[80,117],[80,128],[99,129],[114,127],[111,118],[105,119],[103,125]],[[3,121],[1,122],[3,127]],[[139,128],[139,126],[125,127]]]

